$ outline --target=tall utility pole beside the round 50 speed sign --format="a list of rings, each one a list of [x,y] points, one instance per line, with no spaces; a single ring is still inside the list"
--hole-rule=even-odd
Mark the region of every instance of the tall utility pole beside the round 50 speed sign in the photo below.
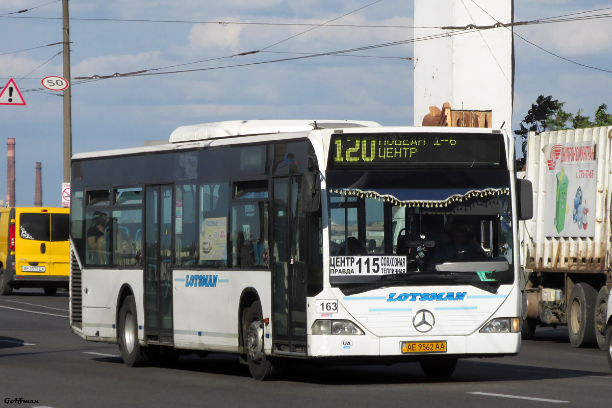
[[[62,42],[64,43],[64,79],[70,83],[70,22],[68,0],[62,0]],[[64,183],[70,182],[70,158],[72,158],[72,107],[70,89],[64,89]]]

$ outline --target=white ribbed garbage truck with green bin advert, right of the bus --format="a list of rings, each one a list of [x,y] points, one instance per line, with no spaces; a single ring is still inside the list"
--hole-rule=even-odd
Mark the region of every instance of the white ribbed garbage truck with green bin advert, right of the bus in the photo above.
[[[567,324],[574,347],[597,343],[612,367],[611,139],[612,126],[529,134],[521,265],[524,333]]]

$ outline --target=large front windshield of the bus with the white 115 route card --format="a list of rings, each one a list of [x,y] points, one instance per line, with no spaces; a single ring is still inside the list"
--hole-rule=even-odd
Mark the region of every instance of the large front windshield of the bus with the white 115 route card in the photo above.
[[[330,282],[513,282],[510,175],[329,171]]]

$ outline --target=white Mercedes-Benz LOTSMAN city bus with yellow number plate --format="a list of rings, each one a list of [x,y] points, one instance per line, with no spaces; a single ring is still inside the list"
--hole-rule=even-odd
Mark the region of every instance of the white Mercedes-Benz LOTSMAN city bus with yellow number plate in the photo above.
[[[501,130],[229,121],[72,158],[70,318],[127,366],[228,352],[418,362],[520,351],[515,178]]]

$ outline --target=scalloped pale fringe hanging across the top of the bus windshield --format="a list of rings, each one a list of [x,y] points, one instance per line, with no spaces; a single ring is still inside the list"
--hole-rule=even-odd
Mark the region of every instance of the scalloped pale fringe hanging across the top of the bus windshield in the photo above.
[[[330,193],[340,194],[346,197],[360,197],[360,198],[378,198],[384,202],[390,202],[394,206],[400,207],[425,207],[425,208],[444,208],[448,206],[455,206],[460,202],[468,201],[472,198],[493,198],[494,196],[510,195],[510,188],[485,188],[484,190],[470,190],[464,195],[455,194],[447,198],[446,200],[408,200],[401,201],[392,195],[384,194],[381,195],[376,191],[363,191],[359,188],[332,188]]]

